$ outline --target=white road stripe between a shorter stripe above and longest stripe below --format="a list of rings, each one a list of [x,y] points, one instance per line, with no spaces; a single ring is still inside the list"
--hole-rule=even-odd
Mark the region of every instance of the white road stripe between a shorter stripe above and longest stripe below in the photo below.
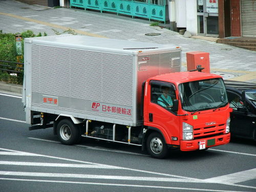
[[[46,166],[46,167],[72,167],[72,168],[112,168],[118,169],[111,165],[92,165],[92,164],[70,164],[70,163],[38,163],[38,162],[17,162],[17,161],[0,161],[1,165],[21,165],[21,166]]]

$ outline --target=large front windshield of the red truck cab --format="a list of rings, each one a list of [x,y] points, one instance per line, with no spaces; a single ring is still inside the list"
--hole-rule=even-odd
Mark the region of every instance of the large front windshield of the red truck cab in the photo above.
[[[228,103],[221,78],[179,84],[182,109],[190,112],[217,109]]]

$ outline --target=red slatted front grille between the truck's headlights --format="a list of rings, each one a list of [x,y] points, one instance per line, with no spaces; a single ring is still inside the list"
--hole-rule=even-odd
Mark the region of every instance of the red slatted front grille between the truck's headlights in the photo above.
[[[222,135],[225,132],[225,124],[207,126],[194,129],[194,138],[201,139]]]

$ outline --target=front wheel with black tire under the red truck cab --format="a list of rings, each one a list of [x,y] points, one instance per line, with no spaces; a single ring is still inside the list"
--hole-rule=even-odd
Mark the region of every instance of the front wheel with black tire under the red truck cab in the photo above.
[[[163,159],[168,153],[163,136],[158,132],[151,133],[146,140],[147,152],[154,158]]]

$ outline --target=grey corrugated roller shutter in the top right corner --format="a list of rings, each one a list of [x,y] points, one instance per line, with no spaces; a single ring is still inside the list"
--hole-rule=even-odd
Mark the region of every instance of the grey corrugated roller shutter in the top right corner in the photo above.
[[[241,0],[242,36],[256,37],[256,1]]]

